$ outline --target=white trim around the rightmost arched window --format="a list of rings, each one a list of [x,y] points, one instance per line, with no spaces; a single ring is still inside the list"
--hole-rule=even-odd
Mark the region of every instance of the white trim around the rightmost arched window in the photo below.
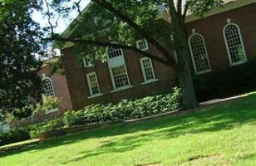
[[[224,35],[225,46],[226,46],[226,49],[227,49],[227,52],[228,52],[228,56],[229,56],[229,64],[230,64],[230,66],[237,66],[237,65],[243,64],[243,63],[248,61],[247,55],[246,55],[246,51],[244,49],[244,40],[243,40],[241,31],[240,31],[239,25],[234,23],[234,22],[230,22],[229,19],[227,20],[227,22],[228,23],[223,28],[223,35]],[[226,33],[225,33],[225,30],[226,30],[227,27],[229,27],[229,25],[234,25],[235,27],[238,28],[239,37],[240,37],[240,40],[241,40],[241,45],[242,45],[242,48],[243,48],[243,51],[244,51],[244,61],[238,61],[238,62],[234,62],[234,63],[232,62],[232,58],[231,58],[230,51],[229,51],[229,45],[228,45],[228,41],[227,41],[227,37],[226,37]]]

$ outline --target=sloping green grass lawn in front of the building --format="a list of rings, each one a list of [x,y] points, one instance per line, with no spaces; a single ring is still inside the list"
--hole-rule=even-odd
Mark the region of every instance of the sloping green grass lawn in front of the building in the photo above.
[[[0,165],[255,166],[256,93],[205,110],[47,140],[0,154]]]

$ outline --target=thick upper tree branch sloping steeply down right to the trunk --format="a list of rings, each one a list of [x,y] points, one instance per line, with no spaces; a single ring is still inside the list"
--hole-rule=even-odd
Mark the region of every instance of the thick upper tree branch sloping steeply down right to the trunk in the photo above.
[[[133,27],[136,32],[139,32],[142,37],[145,37],[147,41],[149,41],[157,50],[159,50],[163,56],[166,57],[168,61],[170,61],[170,65],[175,69],[178,69],[179,66],[176,64],[176,61],[174,57],[171,55],[170,51],[167,51],[165,47],[161,46],[158,41],[155,41],[154,38],[150,37],[149,34],[147,34],[142,28],[140,28],[139,25],[137,25],[133,20],[131,20],[129,17],[126,17],[124,14],[122,14],[120,11],[116,10],[114,7],[112,7],[110,2],[106,2],[106,0],[91,0],[92,2],[96,2],[99,6],[106,8],[109,12],[113,13],[116,17],[119,17],[122,21],[128,23],[130,27]]]

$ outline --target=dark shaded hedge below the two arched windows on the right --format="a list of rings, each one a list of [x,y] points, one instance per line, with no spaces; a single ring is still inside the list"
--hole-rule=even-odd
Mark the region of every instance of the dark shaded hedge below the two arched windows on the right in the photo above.
[[[213,100],[255,90],[255,78],[256,61],[251,61],[208,76],[194,76],[194,87],[200,101]]]

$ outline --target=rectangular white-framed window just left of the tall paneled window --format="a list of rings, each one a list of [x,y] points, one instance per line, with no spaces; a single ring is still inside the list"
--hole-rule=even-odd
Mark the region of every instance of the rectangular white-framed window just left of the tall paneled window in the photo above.
[[[90,90],[90,95],[100,95],[101,90],[99,86],[99,82],[96,76],[96,72],[92,72],[86,75],[87,76],[87,82]]]

